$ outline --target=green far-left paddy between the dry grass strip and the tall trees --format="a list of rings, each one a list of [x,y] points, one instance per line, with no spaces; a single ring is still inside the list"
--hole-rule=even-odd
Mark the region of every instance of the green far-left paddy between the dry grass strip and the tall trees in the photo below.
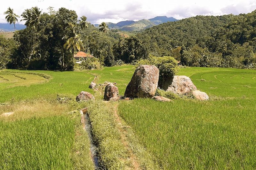
[[[7,70],[4,70],[7,71]],[[25,99],[35,98],[56,98],[57,94],[66,94],[75,97],[81,91],[88,91],[93,93],[92,89],[89,89],[90,82],[94,76],[82,73],[82,72],[55,72],[55,71],[19,71],[19,70],[8,70],[9,73],[22,74],[27,79],[20,79],[12,75],[0,75],[5,76],[6,79],[13,78],[13,81],[19,80],[20,83],[15,87],[7,88],[10,86],[9,82],[0,83],[0,103],[6,101],[21,101]],[[17,73],[18,72],[18,73]],[[47,74],[52,77],[47,82],[33,82],[32,79],[35,75]],[[1,72],[0,72],[1,74]],[[41,76],[37,76],[40,79],[44,79]],[[1,78],[0,78],[1,79]],[[35,79],[33,79],[35,80]],[[45,79],[44,79],[45,80]],[[33,82],[32,84],[30,82]],[[24,83],[23,83],[24,82]],[[27,86],[24,86],[26,84]],[[11,85],[13,86],[13,85]]]

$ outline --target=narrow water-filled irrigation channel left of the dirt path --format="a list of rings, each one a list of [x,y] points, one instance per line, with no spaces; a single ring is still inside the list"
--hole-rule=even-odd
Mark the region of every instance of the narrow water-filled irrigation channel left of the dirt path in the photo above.
[[[99,157],[96,148],[96,144],[93,141],[92,134],[92,125],[90,121],[89,114],[87,112],[87,108],[80,110],[81,113],[81,124],[83,125],[84,130],[87,132],[89,140],[90,140],[90,152],[92,156],[92,162],[94,163],[95,169],[105,169],[104,167],[99,165]]]

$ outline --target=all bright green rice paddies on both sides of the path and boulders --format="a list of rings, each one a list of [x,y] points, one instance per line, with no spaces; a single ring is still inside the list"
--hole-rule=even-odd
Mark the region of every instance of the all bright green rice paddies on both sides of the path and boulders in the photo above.
[[[98,84],[116,82],[124,95],[134,70],[134,66],[116,66],[87,72],[0,71],[0,114],[14,112],[0,116],[0,169],[94,169],[77,112],[86,104],[77,104],[75,97],[82,90],[95,94],[88,88],[93,75]],[[187,67],[178,74],[189,76],[210,100],[110,103],[157,167],[256,169],[256,71]],[[95,95],[102,100],[103,94]],[[93,111],[92,119],[99,115],[95,120],[102,121],[100,110],[104,111]],[[94,124],[98,138],[108,141],[108,136],[100,136],[100,124]],[[121,152],[104,155],[116,158],[117,153]]]

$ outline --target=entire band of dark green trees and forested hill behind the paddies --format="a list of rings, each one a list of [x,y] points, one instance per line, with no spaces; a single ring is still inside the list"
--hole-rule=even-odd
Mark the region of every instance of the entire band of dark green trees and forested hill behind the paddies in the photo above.
[[[0,68],[72,70],[80,50],[104,66],[152,55],[172,56],[186,66],[256,67],[256,10],[167,22],[124,38],[106,23],[98,29],[85,16],[78,19],[75,11],[48,9],[25,10],[21,17],[27,28],[16,31],[15,41],[0,37]]]

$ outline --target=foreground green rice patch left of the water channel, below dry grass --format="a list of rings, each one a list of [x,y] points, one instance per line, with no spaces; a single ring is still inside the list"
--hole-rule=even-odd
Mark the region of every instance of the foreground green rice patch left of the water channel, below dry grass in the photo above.
[[[0,168],[71,169],[74,125],[64,116],[0,121]]]

